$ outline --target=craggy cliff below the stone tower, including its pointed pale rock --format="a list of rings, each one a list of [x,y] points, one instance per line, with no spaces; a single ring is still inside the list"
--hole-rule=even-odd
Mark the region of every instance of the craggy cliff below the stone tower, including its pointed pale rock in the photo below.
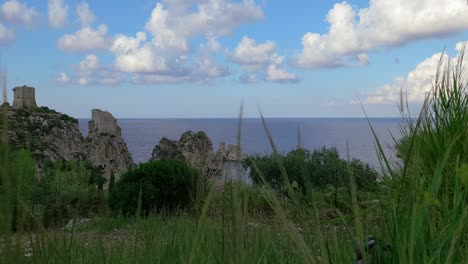
[[[117,120],[109,112],[95,109],[85,139],[78,120],[47,107],[8,107],[8,138],[12,149],[29,150],[41,175],[48,162],[88,161],[110,179],[127,171],[133,159],[122,139]]]

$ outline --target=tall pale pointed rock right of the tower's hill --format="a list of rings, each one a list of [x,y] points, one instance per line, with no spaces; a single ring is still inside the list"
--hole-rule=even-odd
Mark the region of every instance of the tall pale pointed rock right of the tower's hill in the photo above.
[[[109,180],[112,174],[118,177],[133,166],[121,129],[111,113],[93,109],[88,130],[86,157],[93,166],[102,169],[104,178]]]

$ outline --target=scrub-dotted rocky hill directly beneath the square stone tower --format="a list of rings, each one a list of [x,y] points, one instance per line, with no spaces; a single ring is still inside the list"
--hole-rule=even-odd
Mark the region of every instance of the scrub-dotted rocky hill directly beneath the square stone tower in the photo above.
[[[48,161],[83,158],[84,138],[78,120],[47,107],[8,108],[9,141],[27,149],[42,168]]]

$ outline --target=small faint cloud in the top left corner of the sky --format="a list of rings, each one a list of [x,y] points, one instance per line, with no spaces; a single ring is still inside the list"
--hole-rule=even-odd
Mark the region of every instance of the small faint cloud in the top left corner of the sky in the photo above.
[[[0,7],[0,17],[9,23],[30,26],[38,18],[38,12],[18,0],[9,0]]]

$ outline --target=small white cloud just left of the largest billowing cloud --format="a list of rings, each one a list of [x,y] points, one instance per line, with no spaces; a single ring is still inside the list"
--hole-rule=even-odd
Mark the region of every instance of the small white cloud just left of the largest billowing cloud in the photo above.
[[[57,45],[68,52],[83,52],[109,48],[111,41],[107,36],[107,26],[100,25],[97,29],[84,27],[74,34],[62,36]]]

